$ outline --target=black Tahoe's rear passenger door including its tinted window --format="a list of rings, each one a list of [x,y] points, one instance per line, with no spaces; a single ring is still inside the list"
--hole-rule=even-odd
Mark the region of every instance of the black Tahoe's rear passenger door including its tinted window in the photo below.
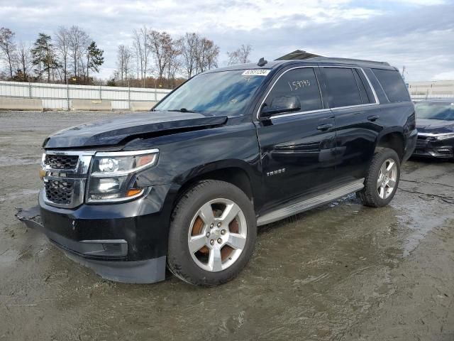
[[[336,175],[339,181],[363,178],[381,130],[378,99],[359,67],[321,67],[324,91],[336,119]]]

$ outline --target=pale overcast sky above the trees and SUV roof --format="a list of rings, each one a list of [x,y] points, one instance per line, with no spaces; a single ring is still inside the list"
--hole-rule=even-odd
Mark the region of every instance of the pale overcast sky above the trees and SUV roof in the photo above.
[[[100,77],[116,67],[116,47],[143,24],[177,37],[197,32],[226,52],[253,46],[251,60],[296,49],[384,60],[406,80],[454,80],[454,0],[0,0],[0,26],[33,41],[78,25],[105,51]]]

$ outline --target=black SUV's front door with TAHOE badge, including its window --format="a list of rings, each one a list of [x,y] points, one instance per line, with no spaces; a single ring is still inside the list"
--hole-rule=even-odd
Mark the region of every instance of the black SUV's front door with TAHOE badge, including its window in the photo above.
[[[317,74],[318,67],[285,70],[261,106],[287,96],[298,97],[301,106],[258,121],[264,210],[317,193],[335,181],[336,126],[333,113],[323,105]]]

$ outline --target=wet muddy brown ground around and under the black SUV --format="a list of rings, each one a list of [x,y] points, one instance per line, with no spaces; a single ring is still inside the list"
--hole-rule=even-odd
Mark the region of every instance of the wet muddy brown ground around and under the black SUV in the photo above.
[[[233,281],[106,281],[16,220],[52,131],[118,113],[0,112],[0,340],[454,340],[454,163],[411,160],[391,204],[350,195],[259,229]]]

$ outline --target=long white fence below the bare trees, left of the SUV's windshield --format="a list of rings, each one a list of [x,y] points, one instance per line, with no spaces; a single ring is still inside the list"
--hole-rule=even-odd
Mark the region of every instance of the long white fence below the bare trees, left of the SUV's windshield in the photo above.
[[[0,82],[0,97],[41,99],[44,109],[70,109],[72,99],[104,99],[112,102],[114,110],[128,110],[130,102],[157,102],[170,91],[141,87]]]

